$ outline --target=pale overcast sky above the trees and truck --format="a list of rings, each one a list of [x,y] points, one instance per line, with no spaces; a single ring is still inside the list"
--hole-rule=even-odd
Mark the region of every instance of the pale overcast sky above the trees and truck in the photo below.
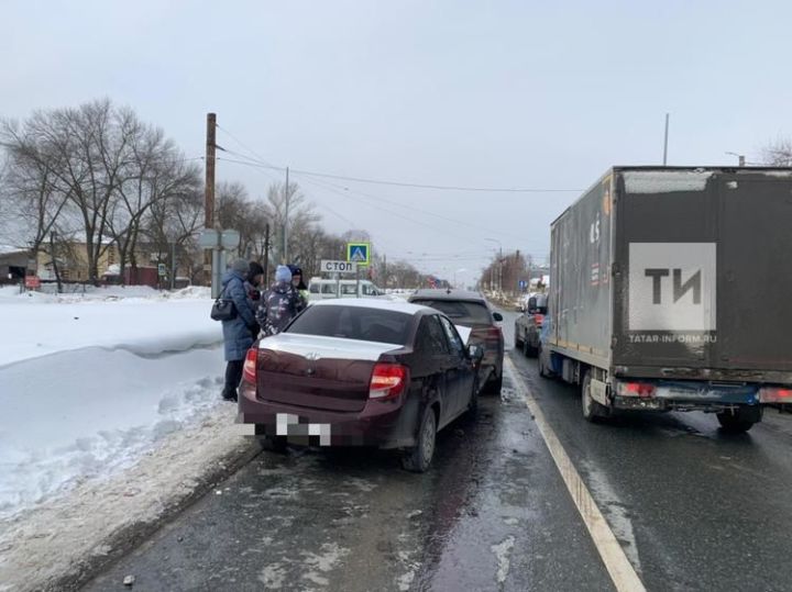
[[[276,166],[581,190],[660,164],[667,112],[671,165],[752,160],[792,135],[783,1],[6,0],[2,15],[0,116],[109,97],[187,156],[213,111],[219,144]],[[229,161],[218,177],[253,197],[283,178]],[[328,230],[465,282],[493,249],[542,260],[579,194],[293,179]]]

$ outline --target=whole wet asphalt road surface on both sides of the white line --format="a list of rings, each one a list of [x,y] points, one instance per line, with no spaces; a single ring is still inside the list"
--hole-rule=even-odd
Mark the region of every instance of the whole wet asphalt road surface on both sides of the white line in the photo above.
[[[741,437],[703,414],[593,425],[576,389],[509,356],[517,380],[441,433],[430,472],[262,453],[86,590],[612,590],[526,384],[647,589],[792,589],[792,416]]]

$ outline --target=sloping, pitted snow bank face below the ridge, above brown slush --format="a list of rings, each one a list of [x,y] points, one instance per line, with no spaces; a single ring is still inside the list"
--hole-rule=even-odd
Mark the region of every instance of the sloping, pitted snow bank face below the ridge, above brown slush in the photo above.
[[[219,403],[222,351],[87,348],[0,371],[0,518],[132,466]]]

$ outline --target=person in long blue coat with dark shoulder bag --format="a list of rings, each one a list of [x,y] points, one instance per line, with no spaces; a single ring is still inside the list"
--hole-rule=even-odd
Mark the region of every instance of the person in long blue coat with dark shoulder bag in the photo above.
[[[237,259],[222,278],[222,297],[233,301],[237,315],[223,321],[223,354],[226,357],[226,386],[222,398],[237,401],[237,387],[242,380],[242,367],[248,349],[253,345],[256,321],[253,305],[245,291],[248,261]]]

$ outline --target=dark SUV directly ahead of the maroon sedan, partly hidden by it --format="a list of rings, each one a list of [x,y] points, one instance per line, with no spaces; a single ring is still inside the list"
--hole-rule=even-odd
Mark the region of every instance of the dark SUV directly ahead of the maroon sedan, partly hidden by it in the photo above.
[[[471,327],[470,344],[484,348],[482,373],[483,388],[499,393],[503,384],[504,336],[499,323],[503,315],[492,310],[481,292],[453,289],[417,290],[409,302],[437,309],[457,325]]]

